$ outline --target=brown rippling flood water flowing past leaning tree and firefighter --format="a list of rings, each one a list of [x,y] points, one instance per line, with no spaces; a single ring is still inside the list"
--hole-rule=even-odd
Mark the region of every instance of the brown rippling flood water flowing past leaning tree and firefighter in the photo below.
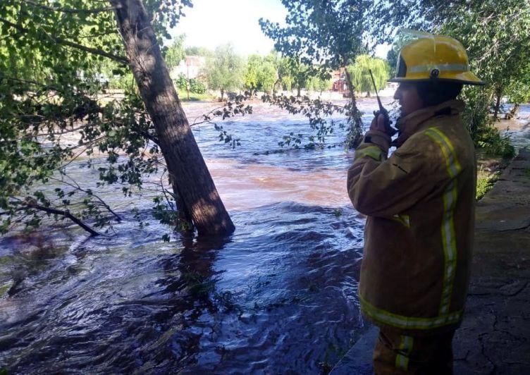
[[[193,122],[212,105],[185,111]],[[376,102],[359,106],[368,124]],[[163,242],[149,193],[135,197],[149,224],[140,228],[130,198],[109,187],[125,220],[107,235],[67,226],[1,240],[0,369],[319,374],[363,335],[364,219],[347,198],[343,132],[326,140],[336,147],[278,153],[283,135],[309,132],[306,119],[256,103],[219,125],[242,145],[219,143],[209,124],[193,131],[235,223],[230,237]],[[69,172],[95,186],[82,162]]]

